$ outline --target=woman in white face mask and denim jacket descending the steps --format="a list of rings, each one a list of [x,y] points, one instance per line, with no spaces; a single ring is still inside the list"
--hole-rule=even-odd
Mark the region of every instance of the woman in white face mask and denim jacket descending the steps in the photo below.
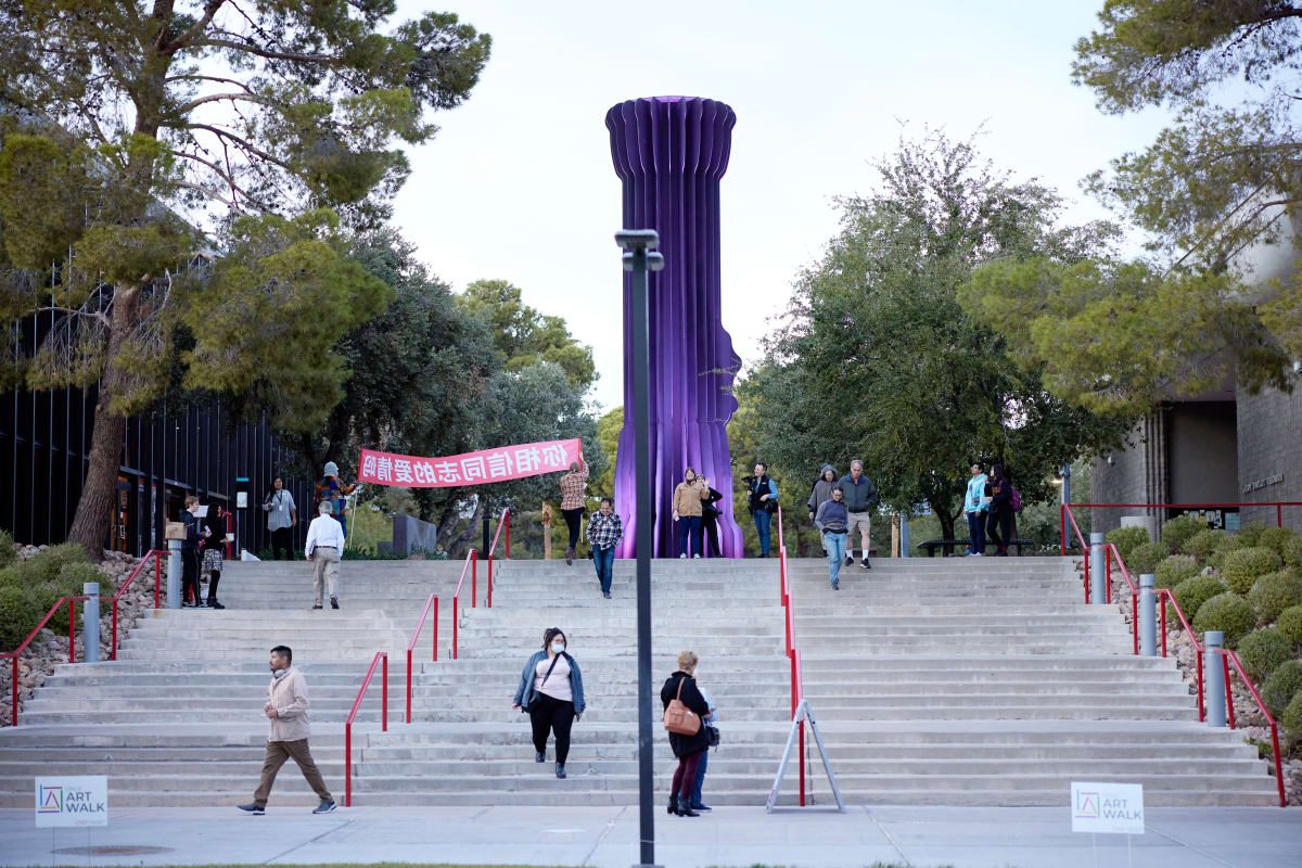
[[[529,712],[534,727],[535,763],[547,761],[547,734],[556,734],[556,777],[565,777],[569,733],[583,717],[583,677],[578,662],[565,652],[560,627],[543,632],[543,649],[534,652],[519,673],[512,708]]]

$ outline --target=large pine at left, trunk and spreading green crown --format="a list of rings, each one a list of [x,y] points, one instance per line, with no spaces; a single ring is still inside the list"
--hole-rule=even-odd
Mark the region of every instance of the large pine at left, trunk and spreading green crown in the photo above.
[[[299,349],[290,333],[310,333],[307,353],[328,347],[383,303],[383,284],[348,263],[333,219],[294,215],[383,220],[408,174],[402,147],[435,133],[426,109],[465,99],[490,51],[487,35],[452,14],[381,31],[393,9],[391,0],[0,5],[0,311],[8,321],[62,318],[35,358],[5,354],[14,366],[5,380],[99,379],[69,534],[89,550],[107,532],[122,420],[161,393],[172,329],[197,329],[189,384],[241,388],[268,379],[249,370],[263,351]],[[219,232],[204,242],[191,225]],[[221,264],[180,278],[204,246]],[[310,310],[303,297],[327,305]],[[316,331],[259,314],[306,314]],[[230,337],[237,321],[251,334],[238,346],[254,359],[204,334],[212,325]],[[289,362],[303,370],[281,384],[311,388],[306,403],[337,398],[337,362]]]

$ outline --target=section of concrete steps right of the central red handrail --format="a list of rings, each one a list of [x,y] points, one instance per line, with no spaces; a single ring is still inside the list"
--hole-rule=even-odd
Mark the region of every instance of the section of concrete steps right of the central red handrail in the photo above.
[[[1198,722],[1174,658],[1133,656],[1069,558],[879,560],[842,567],[840,591],[823,561],[789,575],[849,802],[1061,806],[1077,780],[1143,783],[1155,807],[1277,804],[1256,748]]]

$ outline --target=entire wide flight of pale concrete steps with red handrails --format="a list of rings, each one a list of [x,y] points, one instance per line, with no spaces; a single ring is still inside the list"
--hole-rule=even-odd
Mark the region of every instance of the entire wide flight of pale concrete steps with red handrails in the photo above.
[[[340,612],[311,610],[306,563],[229,563],[224,612],[156,612],[120,660],[60,666],[0,730],[0,806],[27,806],[31,777],[107,773],[118,806],[233,804],[256,783],[267,651],[294,649],[309,681],[312,752],[342,798],[342,721],[376,651],[389,657],[389,731],[380,685],[354,726],[354,804],[631,804],[637,799],[634,565],[615,599],[589,561],[496,562],[487,609],[461,563],[344,563]],[[1272,804],[1255,750],[1197,722],[1173,662],[1129,656],[1113,608],[1087,609],[1068,560],[878,561],[827,587],[822,561],[793,561],[806,694],[852,803],[1055,804],[1070,780],[1141,781],[1150,804]],[[658,561],[654,671],[691,648],[720,707],[724,744],[706,799],[759,804],[789,729],[789,666],[776,561]],[[405,649],[426,596],[440,595],[439,661],[417,647],[414,722],[402,722]],[[546,627],[566,631],[589,709],[557,781],[536,765],[527,718],[510,709]],[[659,701],[655,708],[659,709]],[[810,743],[811,759],[816,757]],[[551,750],[548,759],[552,759]],[[290,764],[292,765],[292,764]],[[272,806],[310,804],[286,765]],[[656,770],[673,760],[656,731]],[[794,773],[783,800],[792,803]],[[827,798],[809,764],[809,789]]]

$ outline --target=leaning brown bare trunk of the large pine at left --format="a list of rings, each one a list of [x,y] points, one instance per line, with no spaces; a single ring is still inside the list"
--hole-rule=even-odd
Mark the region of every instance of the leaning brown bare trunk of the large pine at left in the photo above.
[[[122,466],[124,416],[111,409],[113,397],[121,390],[129,372],[117,366],[118,350],[135,324],[139,290],[135,288],[115,293],[113,314],[108,331],[108,355],[104,376],[95,402],[95,420],[90,440],[90,465],[82,484],[77,514],[68,531],[68,541],[81,543],[92,561],[104,557],[104,540],[112,521],[117,492],[117,471]],[[165,498],[164,501],[165,502]]]

